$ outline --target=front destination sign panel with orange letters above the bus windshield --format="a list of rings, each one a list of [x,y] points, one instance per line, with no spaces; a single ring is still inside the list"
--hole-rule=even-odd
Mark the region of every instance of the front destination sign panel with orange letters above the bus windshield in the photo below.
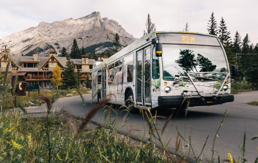
[[[157,33],[162,44],[221,46],[217,37],[193,33]]]

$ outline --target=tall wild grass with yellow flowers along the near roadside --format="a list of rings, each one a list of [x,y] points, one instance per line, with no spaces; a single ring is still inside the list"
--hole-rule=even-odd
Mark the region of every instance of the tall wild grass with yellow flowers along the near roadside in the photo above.
[[[8,75],[5,75],[4,83],[10,82],[6,76]],[[239,85],[241,87],[245,86],[242,83]],[[189,155],[193,155],[194,161],[201,162],[203,151],[210,150],[205,149],[209,136],[207,136],[201,152],[196,153],[193,148],[194,143],[191,141],[191,134],[190,136],[185,136],[185,134],[179,132],[177,127],[176,142],[170,142],[171,139],[162,142],[162,134],[166,130],[173,113],[166,119],[165,124],[161,124],[157,118],[157,112],[152,115],[150,110],[140,108],[140,114],[143,116],[143,120],[147,121],[148,126],[145,126],[144,135],[141,135],[140,145],[134,146],[131,144],[132,139],[130,139],[130,134],[133,133],[134,128],[132,127],[130,131],[125,131],[126,135],[121,135],[117,127],[118,122],[122,121],[121,132],[124,132],[123,127],[128,120],[127,116],[130,115],[128,107],[124,105],[120,108],[114,108],[111,105],[106,105],[109,99],[103,99],[102,102],[91,108],[87,114],[85,112],[85,116],[82,119],[74,119],[65,110],[51,112],[52,104],[58,98],[58,95],[63,97],[67,93],[75,93],[72,90],[68,90],[68,92],[62,92],[62,90],[55,90],[57,92],[46,91],[42,92],[41,96],[38,96],[37,93],[32,93],[30,97],[26,96],[18,99],[19,109],[4,112],[3,108],[5,106],[14,108],[12,101],[15,97],[7,94],[7,85],[3,86],[0,94],[2,111],[0,116],[0,162],[187,162],[188,160],[191,161]],[[83,93],[77,91],[76,94],[80,95],[85,108]],[[38,118],[32,115],[24,117],[22,115],[22,112],[26,112],[23,108],[24,101],[32,99],[39,99],[47,104],[46,117]],[[103,126],[92,128],[91,119],[100,109],[103,109],[105,123]],[[125,115],[121,120],[120,114],[124,112]],[[115,116],[113,113],[115,113]],[[187,111],[185,111],[185,115],[187,115]],[[177,117],[177,115],[175,116]],[[226,112],[218,130],[214,131],[212,155],[210,160],[206,160],[208,162],[236,162],[230,153],[228,153],[228,160],[221,160],[219,152],[217,153],[218,160],[214,158],[216,137],[223,126],[225,117]],[[159,128],[157,125],[159,125]],[[258,139],[258,136],[253,139]],[[154,142],[159,142],[162,150],[157,148]],[[175,152],[169,153],[167,150],[169,143],[176,144]],[[185,148],[185,144],[188,144],[189,148]],[[189,149],[189,151],[185,151],[186,149]],[[241,156],[238,157],[238,162],[240,160],[246,162],[245,133],[240,150]],[[183,159],[178,157],[178,154]],[[257,160],[258,157],[255,161]]]

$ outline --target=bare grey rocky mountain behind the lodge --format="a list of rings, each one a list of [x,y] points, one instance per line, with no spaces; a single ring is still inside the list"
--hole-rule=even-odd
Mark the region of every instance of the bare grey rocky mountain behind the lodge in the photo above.
[[[119,34],[123,46],[136,40],[115,20],[101,18],[99,12],[93,12],[79,19],[40,22],[37,27],[0,39],[0,48],[7,46],[13,56],[30,56],[34,51],[37,51],[39,56],[44,56],[48,50],[59,52],[62,47],[70,53],[75,38],[79,48],[94,47],[96,53],[101,53],[110,49],[115,33]]]

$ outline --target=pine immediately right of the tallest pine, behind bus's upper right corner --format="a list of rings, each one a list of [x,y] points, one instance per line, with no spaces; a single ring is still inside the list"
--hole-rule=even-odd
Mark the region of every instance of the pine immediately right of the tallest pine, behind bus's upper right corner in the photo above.
[[[221,17],[221,23],[220,23],[219,28],[220,28],[219,29],[219,39],[225,48],[230,45],[231,38],[230,38],[230,31],[228,31],[223,17]]]

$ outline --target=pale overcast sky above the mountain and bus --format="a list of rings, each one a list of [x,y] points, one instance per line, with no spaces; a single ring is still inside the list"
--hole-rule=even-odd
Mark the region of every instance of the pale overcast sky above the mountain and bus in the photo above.
[[[208,33],[211,13],[220,24],[223,17],[231,38],[238,31],[243,39],[248,33],[250,44],[258,43],[257,0],[0,0],[0,39],[21,30],[36,27],[40,22],[52,23],[78,19],[93,12],[102,18],[116,20],[128,33],[140,38],[148,14],[156,31],[182,31],[185,24],[190,32]]]

